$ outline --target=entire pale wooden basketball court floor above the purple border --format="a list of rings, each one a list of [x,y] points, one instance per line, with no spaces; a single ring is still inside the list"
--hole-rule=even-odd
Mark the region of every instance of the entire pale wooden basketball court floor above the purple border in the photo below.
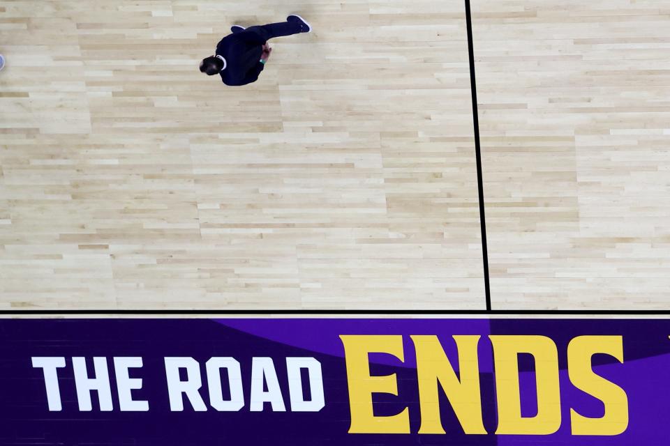
[[[470,8],[1,0],[0,309],[668,309],[670,0]]]

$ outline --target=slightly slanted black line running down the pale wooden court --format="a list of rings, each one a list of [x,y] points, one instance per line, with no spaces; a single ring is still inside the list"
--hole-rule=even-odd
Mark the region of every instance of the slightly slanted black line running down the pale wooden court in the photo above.
[[[477,82],[475,79],[475,47],[472,44],[472,14],[470,0],[466,1],[468,53],[470,56],[470,91],[472,92],[472,123],[475,127],[475,157],[477,158],[477,188],[479,190],[479,225],[482,227],[482,261],[484,262],[484,293],[486,311],[491,312],[491,284],[489,282],[489,247],[486,242],[486,214],[484,213],[484,180],[482,180],[482,146],[479,144],[479,112],[477,111]]]

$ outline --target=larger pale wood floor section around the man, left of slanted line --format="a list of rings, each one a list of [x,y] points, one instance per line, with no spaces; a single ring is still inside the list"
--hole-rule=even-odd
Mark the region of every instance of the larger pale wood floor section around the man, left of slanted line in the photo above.
[[[0,1],[0,52],[1,308],[484,307],[462,1]]]

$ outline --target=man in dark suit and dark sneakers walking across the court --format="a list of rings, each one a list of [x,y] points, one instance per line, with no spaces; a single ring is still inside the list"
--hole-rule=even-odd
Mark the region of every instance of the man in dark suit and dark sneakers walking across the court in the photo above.
[[[216,45],[216,54],[202,59],[200,72],[208,76],[221,75],[224,84],[241,86],[258,80],[272,52],[268,40],[310,33],[312,27],[299,15],[289,15],[286,22],[249,28],[233,25],[230,31],[232,34]]]

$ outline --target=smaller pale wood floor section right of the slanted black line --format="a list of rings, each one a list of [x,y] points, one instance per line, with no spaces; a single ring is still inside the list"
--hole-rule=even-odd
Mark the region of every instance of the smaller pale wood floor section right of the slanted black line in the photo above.
[[[472,19],[493,307],[668,309],[670,1]]]

